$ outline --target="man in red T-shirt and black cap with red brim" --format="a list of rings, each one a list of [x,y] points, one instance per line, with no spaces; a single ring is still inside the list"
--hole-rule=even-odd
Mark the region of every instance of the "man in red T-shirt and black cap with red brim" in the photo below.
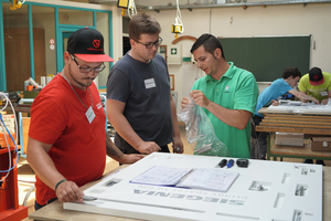
[[[105,131],[106,115],[95,77],[113,59],[93,29],[74,32],[65,66],[31,107],[26,159],[36,175],[35,210],[54,201],[83,201],[81,186],[98,179],[106,154],[121,164],[141,159],[124,155]]]

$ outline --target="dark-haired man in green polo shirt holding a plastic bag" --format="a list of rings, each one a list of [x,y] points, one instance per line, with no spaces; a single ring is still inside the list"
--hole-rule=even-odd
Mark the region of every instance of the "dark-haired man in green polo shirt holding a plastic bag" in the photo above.
[[[231,156],[250,158],[250,124],[258,96],[254,75],[226,62],[221,42],[211,34],[202,34],[191,53],[205,76],[197,80],[190,96],[203,107],[217,138],[226,145]],[[182,107],[189,98],[182,99]]]

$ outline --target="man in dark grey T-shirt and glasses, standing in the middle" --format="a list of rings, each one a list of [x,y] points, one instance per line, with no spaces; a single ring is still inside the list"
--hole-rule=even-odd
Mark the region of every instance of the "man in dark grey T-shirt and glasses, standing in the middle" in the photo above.
[[[107,116],[116,129],[115,144],[125,154],[182,154],[183,143],[170,92],[159,22],[136,14],[129,22],[131,50],[110,70],[107,81]]]

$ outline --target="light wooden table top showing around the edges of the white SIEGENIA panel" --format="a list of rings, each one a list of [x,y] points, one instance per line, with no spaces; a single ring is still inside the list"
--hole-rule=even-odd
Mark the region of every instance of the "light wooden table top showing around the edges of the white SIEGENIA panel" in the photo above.
[[[279,162],[281,164],[281,162]],[[126,166],[121,166],[110,172],[108,172],[105,177],[122,169]],[[323,167],[323,189],[322,189],[322,215],[323,220],[331,220],[331,210],[328,208],[331,207],[331,167]],[[104,178],[105,179],[105,178]],[[84,186],[82,189],[87,189],[88,187],[100,182],[103,179],[97,180],[95,182],[88,183]],[[31,213],[29,215],[30,219],[36,220],[71,220],[71,221],[87,221],[87,220],[110,220],[110,221],[131,221],[136,219],[128,219],[128,218],[120,218],[120,217],[113,217],[113,215],[104,215],[104,214],[96,214],[96,213],[88,213],[88,212],[79,212],[79,211],[70,211],[63,209],[63,203],[58,200],[52,202],[51,204]]]

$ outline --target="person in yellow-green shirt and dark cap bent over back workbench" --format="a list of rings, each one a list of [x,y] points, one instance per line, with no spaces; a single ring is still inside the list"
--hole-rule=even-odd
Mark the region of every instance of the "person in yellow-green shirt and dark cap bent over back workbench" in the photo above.
[[[321,69],[314,66],[305,74],[299,82],[298,88],[300,93],[308,94],[317,98],[321,104],[328,104],[331,98],[331,74],[322,72]],[[308,101],[302,101],[308,102]],[[306,164],[312,164],[312,159],[306,159]],[[323,165],[323,160],[316,160],[317,165]]]

